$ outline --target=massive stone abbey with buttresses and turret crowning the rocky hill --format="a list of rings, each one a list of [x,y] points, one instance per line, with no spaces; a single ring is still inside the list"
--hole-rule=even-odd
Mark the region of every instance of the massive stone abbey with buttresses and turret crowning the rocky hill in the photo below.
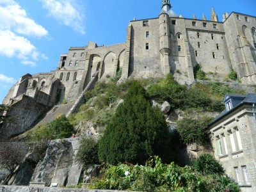
[[[71,47],[67,54],[61,54],[56,70],[20,77],[3,104],[13,106],[10,113],[23,114],[22,119],[27,121],[17,125],[22,132],[38,118],[42,108],[64,99],[75,102],[92,79],[104,81],[120,69],[120,81],[171,73],[179,83],[192,84],[196,81],[193,68],[200,65],[213,81],[223,81],[235,70],[241,83],[255,84],[255,28],[256,17],[224,13],[219,22],[213,8],[211,20],[204,15],[202,20],[195,15],[186,19],[172,11],[169,0],[163,0],[158,17],[129,22],[124,43],[98,46],[89,42],[85,47]],[[28,103],[31,109],[20,108]],[[0,125],[2,134],[6,126]]]

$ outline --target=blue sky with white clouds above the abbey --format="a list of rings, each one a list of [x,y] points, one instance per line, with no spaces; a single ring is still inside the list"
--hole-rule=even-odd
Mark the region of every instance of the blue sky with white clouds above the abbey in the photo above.
[[[88,41],[125,42],[129,20],[158,17],[161,0],[0,0],[0,102],[24,74],[51,72],[60,54]],[[211,18],[222,13],[256,16],[256,0],[171,0],[183,17]]]

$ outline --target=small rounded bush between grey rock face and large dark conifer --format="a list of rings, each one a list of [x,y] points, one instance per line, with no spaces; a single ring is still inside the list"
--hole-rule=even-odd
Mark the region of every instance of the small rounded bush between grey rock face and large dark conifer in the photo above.
[[[84,136],[80,140],[80,147],[76,159],[86,167],[88,164],[99,164],[99,140],[93,137]]]

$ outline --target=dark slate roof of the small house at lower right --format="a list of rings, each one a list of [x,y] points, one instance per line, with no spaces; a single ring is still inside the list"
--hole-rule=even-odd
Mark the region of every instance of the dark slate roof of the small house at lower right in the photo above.
[[[224,97],[223,102],[225,102],[225,100],[227,100],[226,98],[234,98],[234,97],[243,97],[244,99],[237,104],[236,106],[233,106],[232,109],[230,109],[229,111],[227,111],[227,109],[224,109],[220,115],[218,115],[213,122],[211,122],[211,124],[208,125],[208,127],[212,124],[214,124],[214,122],[217,122],[218,120],[220,120],[221,118],[223,118],[223,116],[227,115],[228,113],[231,113],[232,111],[234,111],[235,109],[239,108],[239,106],[242,106],[243,104],[256,104],[256,93],[248,93],[246,95],[236,95],[236,94],[226,94]],[[256,106],[255,106],[256,107]]]

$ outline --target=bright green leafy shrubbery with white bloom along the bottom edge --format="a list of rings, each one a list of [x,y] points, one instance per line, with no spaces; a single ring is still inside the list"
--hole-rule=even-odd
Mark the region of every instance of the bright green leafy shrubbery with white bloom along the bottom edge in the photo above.
[[[95,179],[93,189],[132,191],[232,191],[240,189],[232,180],[218,175],[202,175],[193,168],[181,168],[174,163],[163,164],[159,157],[152,157],[145,166],[118,164],[110,166],[102,179]]]

